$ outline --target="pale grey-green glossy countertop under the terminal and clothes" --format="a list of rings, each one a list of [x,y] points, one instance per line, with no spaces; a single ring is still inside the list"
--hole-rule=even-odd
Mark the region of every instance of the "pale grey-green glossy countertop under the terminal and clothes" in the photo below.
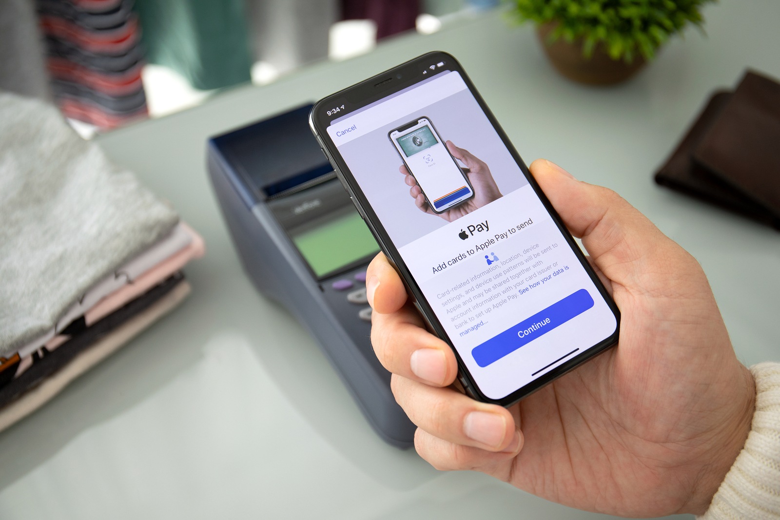
[[[170,200],[207,254],[186,267],[172,315],[0,433],[0,518],[606,518],[471,472],[437,472],[382,442],[315,341],[255,292],[211,193],[209,136],[246,125],[424,51],[463,64],[519,153],[615,189],[696,256],[739,358],[780,359],[780,234],[652,180],[711,91],[747,67],[780,76],[780,3],[706,8],[634,80],[562,79],[530,27],[498,12],[97,141]]]

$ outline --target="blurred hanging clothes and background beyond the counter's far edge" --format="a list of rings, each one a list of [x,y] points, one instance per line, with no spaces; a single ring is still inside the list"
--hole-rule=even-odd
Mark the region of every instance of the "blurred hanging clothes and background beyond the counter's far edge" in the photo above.
[[[499,0],[2,0],[0,90],[51,99],[82,136],[242,83],[431,34]]]

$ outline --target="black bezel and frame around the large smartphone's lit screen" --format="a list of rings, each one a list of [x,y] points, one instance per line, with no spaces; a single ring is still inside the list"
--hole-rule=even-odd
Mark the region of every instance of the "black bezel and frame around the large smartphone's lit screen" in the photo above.
[[[541,200],[544,208],[548,211],[548,214],[550,214],[552,220],[555,222],[555,225],[562,232],[562,235],[566,239],[569,248],[573,250],[577,260],[580,261],[580,264],[587,272],[591,281],[593,281],[595,287],[601,295],[601,298],[604,299],[604,301],[607,303],[607,306],[612,311],[612,314],[615,316],[615,331],[613,331],[612,334],[610,334],[607,338],[600,341],[596,345],[585,349],[584,352],[581,352],[579,355],[574,356],[572,359],[568,359],[561,365],[558,365],[549,372],[544,373],[541,377],[538,377],[530,383],[523,385],[523,387],[519,387],[516,391],[513,391],[511,394],[508,394],[504,398],[500,399],[488,398],[480,391],[478,385],[471,376],[471,373],[466,368],[465,363],[463,363],[463,359],[461,359],[458,350],[453,346],[452,341],[449,339],[448,334],[446,334],[444,327],[441,326],[441,323],[439,322],[438,317],[436,317],[436,314],[431,308],[431,305],[427,302],[427,299],[425,299],[413,275],[406,267],[406,264],[404,264],[401,256],[399,255],[398,249],[395,247],[395,244],[392,242],[388,233],[385,231],[385,228],[378,219],[377,214],[374,213],[374,210],[371,207],[371,203],[369,203],[366,196],[363,194],[363,191],[360,189],[360,186],[356,182],[352,172],[350,172],[349,166],[345,161],[343,161],[341,154],[339,154],[339,150],[335,147],[335,144],[330,139],[330,136],[328,136],[327,128],[330,125],[330,121],[335,118],[328,119],[324,116],[327,107],[340,106],[341,104],[345,104],[348,108],[345,108],[343,113],[339,114],[339,118],[341,118],[344,115],[349,114],[351,111],[363,108],[367,104],[379,101],[383,97],[387,97],[388,95],[394,94],[399,90],[411,87],[415,83],[420,83],[420,81],[427,79],[420,79],[421,71],[424,68],[427,68],[431,63],[438,63],[442,61],[448,65],[444,70],[455,71],[463,78],[463,81],[466,83],[466,87],[468,87],[470,93],[477,101],[477,104],[480,105],[482,111],[484,111],[484,114],[487,116],[488,121],[491,122],[491,125],[494,127],[496,133],[498,133],[498,136],[504,143],[504,146],[507,150],[509,150],[512,158],[514,158],[520,170],[523,172],[523,175],[525,175],[526,179],[528,179],[530,186],[532,189],[534,189],[534,192],[539,197],[539,200]],[[444,70],[440,72],[444,72]],[[428,78],[434,76],[436,75],[434,74],[428,76]],[[399,77],[405,78],[406,80],[398,80],[397,82],[388,81],[390,78]],[[502,406],[513,405],[520,399],[527,397],[528,395],[534,393],[534,391],[539,390],[541,387],[544,387],[558,377],[561,377],[570,370],[573,370],[576,368],[576,366],[580,366],[580,364],[585,363],[587,360],[594,358],[602,352],[605,352],[605,350],[608,348],[617,344],[620,330],[620,311],[617,305],[607,292],[605,286],[601,283],[601,280],[599,280],[594,269],[590,267],[590,264],[585,258],[585,255],[580,250],[580,247],[577,246],[573,236],[571,233],[569,233],[569,230],[566,229],[565,225],[563,225],[563,222],[558,216],[558,213],[555,211],[555,208],[552,207],[552,204],[548,200],[547,196],[545,196],[544,192],[541,191],[541,188],[534,179],[534,176],[530,174],[530,171],[528,170],[522,157],[520,157],[520,155],[517,153],[514,145],[509,140],[509,137],[506,136],[502,126],[498,123],[498,120],[495,118],[495,115],[493,115],[493,112],[490,110],[490,108],[488,108],[488,105],[479,94],[477,88],[474,87],[470,77],[463,70],[463,66],[461,66],[456,58],[454,58],[452,55],[449,55],[443,51],[428,52],[424,55],[418,56],[417,58],[413,58],[408,62],[397,65],[392,69],[388,69],[382,73],[371,76],[371,78],[363,80],[360,83],[356,83],[351,87],[339,90],[339,92],[336,92],[335,94],[324,97],[320,101],[317,101],[316,104],[314,104],[314,108],[312,108],[309,116],[309,123],[312,131],[314,132],[314,136],[317,137],[317,141],[320,143],[320,146],[322,147],[325,155],[328,157],[328,160],[331,161],[331,164],[333,164],[339,179],[341,179],[342,184],[349,192],[349,195],[353,198],[359,213],[361,216],[363,216],[363,220],[366,221],[366,224],[371,229],[371,232],[374,233],[374,238],[377,239],[379,246],[388,257],[388,260],[390,260],[390,263],[393,265],[393,267],[395,267],[395,270],[399,272],[400,278],[402,279],[404,285],[406,285],[406,290],[412,297],[415,306],[417,306],[417,309],[420,310],[420,313],[423,314],[427,324],[429,327],[431,327],[434,333],[437,334],[439,338],[444,340],[450,346],[450,348],[452,348],[452,352],[455,352],[455,356],[458,361],[458,370],[460,376],[459,379],[465,387],[465,390],[471,394],[473,398],[476,398],[479,401],[495,403]]]

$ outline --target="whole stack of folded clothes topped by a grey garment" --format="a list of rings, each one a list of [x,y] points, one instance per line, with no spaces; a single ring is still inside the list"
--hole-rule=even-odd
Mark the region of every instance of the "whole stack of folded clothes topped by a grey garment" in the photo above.
[[[0,430],[172,310],[203,253],[56,108],[0,93]]]

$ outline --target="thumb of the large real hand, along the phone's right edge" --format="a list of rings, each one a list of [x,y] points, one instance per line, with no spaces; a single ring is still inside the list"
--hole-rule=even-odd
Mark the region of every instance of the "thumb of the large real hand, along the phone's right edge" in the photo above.
[[[610,280],[636,286],[637,278],[648,270],[670,264],[670,253],[687,254],[612,189],[580,182],[544,159],[534,161],[530,171],[563,223],[582,239],[594,264]]]

